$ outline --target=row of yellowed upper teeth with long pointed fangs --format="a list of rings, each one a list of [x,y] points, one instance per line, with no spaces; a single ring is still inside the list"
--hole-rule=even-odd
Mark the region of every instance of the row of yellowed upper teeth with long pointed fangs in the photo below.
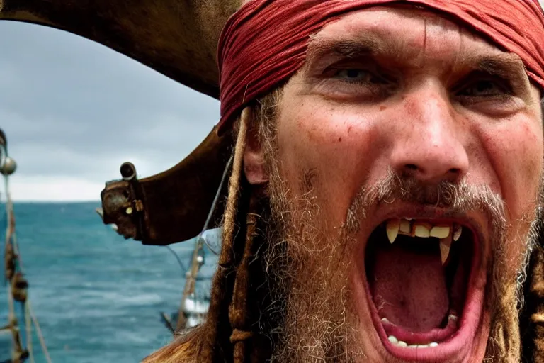
[[[459,240],[461,233],[463,232],[463,226],[456,223],[433,225],[430,221],[395,218],[387,220],[385,230],[387,232],[387,238],[391,243],[395,242],[398,235],[409,235],[420,238],[438,238],[440,240],[442,264],[445,264],[450,255],[452,239],[454,241]]]

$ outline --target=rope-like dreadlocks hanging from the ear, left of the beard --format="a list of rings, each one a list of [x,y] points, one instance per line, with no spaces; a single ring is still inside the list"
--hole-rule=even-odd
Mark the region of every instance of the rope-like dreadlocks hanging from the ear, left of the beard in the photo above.
[[[263,245],[258,223],[259,199],[242,173],[242,162],[250,123],[251,108],[239,120],[234,166],[222,230],[222,252],[212,287],[212,304],[205,324],[206,342],[198,362],[264,362],[271,343],[260,335],[256,320],[266,290],[256,289],[264,279],[258,252]],[[249,291],[252,294],[249,294]]]

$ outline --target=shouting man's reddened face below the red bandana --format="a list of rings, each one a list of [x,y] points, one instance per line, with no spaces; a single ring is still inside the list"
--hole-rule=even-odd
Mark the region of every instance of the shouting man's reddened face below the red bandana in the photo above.
[[[289,199],[311,195],[312,248],[344,244],[305,264],[346,274],[330,290],[349,291],[345,316],[368,362],[482,362],[498,319],[489,286],[515,289],[538,206],[539,97],[519,57],[428,11],[358,11],[312,38],[278,106],[276,165]],[[263,179],[251,160],[248,179]],[[438,199],[444,183],[485,189],[504,220],[421,195],[367,196],[356,213],[385,179]]]

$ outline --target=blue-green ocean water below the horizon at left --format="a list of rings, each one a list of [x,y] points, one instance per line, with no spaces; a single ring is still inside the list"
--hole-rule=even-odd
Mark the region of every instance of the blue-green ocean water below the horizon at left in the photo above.
[[[103,225],[100,203],[16,203],[18,245],[29,298],[52,362],[133,363],[171,340],[159,313],[179,308],[184,272],[166,247],[125,240]],[[4,207],[4,205],[2,205]],[[5,218],[0,227],[4,228]],[[4,231],[0,233],[4,241]],[[215,235],[210,235],[217,247]],[[194,241],[172,245],[188,265]],[[206,250],[199,294],[217,257]],[[0,288],[0,325],[7,318]],[[11,335],[0,335],[0,362]],[[35,362],[45,362],[34,336]]]

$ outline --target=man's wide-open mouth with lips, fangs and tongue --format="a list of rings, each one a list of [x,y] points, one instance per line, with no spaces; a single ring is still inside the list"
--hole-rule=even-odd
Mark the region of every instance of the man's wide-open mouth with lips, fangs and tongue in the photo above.
[[[482,298],[471,288],[477,240],[458,220],[393,218],[373,231],[365,252],[367,292],[391,354],[434,362],[474,339],[482,315]]]

